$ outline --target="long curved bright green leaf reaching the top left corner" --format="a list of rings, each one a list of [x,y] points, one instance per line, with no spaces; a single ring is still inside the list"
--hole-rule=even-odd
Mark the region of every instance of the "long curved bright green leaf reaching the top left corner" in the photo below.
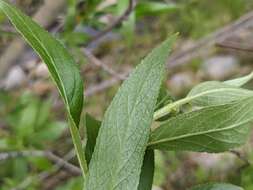
[[[0,0],[0,10],[47,64],[67,110],[78,126],[83,106],[83,84],[73,58],[59,41],[14,6]]]

